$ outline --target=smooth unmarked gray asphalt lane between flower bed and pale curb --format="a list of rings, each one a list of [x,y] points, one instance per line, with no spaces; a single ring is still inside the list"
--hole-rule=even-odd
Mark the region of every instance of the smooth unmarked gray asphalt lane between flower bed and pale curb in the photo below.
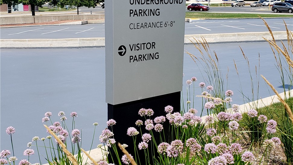
[[[286,44],[286,43],[285,43]],[[279,92],[279,74],[274,67],[274,57],[267,43],[242,43],[244,53],[250,60],[251,68],[258,65],[260,53],[260,74],[264,75]],[[227,89],[234,91],[234,104],[243,103],[240,94],[240,81],[243,92],[251,97],[250,76],[246,62],[242,56],[239,44],[212,44],[220,61],[223,75],[229,67],[229,83]],[[199,56],[192,45],[184,49]],[[240,73],[240,80],[234,69],[233,59]],[[46,137],[41,119],[44,113],[53,113],[52,120],[59,121],[57,113],[64,111],[68,118],[67,127],[71,129],[72,111],[78,113],[76,128],[82,128],[82,147],[89,150],[94,127],[92,123],[99,122],[93,147],[99,144],[98,136],[106,128],[107,104],[105,103],[105,49],[1,49],[1,150],[10,149],[10,136],[3,133],[8,126],[16,128],[12,135],[15,154],[18,160],[25,159],[22,155],[27,149],[26,144],[32,137]],[[184,55],[184,74],[182,84],[186,93],[185,82],[195,76],[199,82],[207,78],[201,65],[198,66],[188,55]],[[203,74],[203,75],[201,75]],[[254,74],[254,71],[252,71]],[[255,77],[255,76],[253,76]],[[133,77],[135,78],[135,77]],[[256,81],[254,80],[256,83]],[[162,82],[162,86],[166,82]],[[208,84],[208,82],[206,82]],[[208,84],[210,85],[210,84]],[[267,97],[271,90],[260,80],[259,97]],[[196,88],[196,94],[201,89]],[[185,93],[183,94],[185,96]],[[272,92],[271,92],[272,93]],[[196,109],[200,111],[201,100],[196,98]],[[148,107],[151,108],[151,107]],[[121,123],[118,123],[121,124]],[[125,130],[126,132],[126,130]],[[41,143],[39,143],[40,145]],[[36,148],[35,146],[33,149]],[[43,148],[39,148],[43,150]],[[37,151],[36,151],[37,152]],[[41,157],[43,162],[43,155]],[[32,163],[38,162],[37,154],[30,157]]]

